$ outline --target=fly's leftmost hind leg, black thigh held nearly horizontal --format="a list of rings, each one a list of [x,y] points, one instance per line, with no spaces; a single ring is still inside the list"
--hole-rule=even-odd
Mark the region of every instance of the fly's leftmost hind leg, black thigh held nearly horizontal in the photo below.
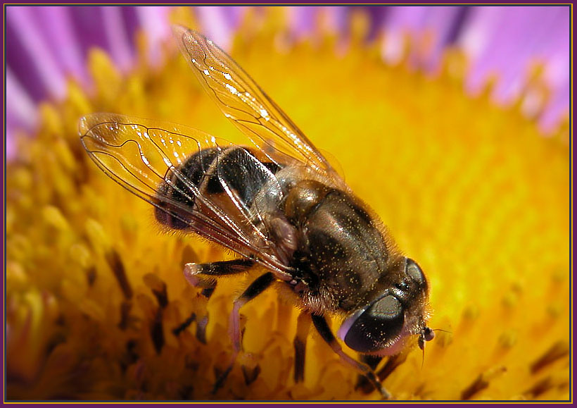
[[[217,261],[208,264],[186,264],[184,265],[184,277],[195,288],[202,288],[201,295],[206,301],[210,299],[215,291],[217,276],[233,275],[248,271],[255,262],[252,259],[232,259],[231,261]],[[208,314],[205,314],[196,323],[196,338],[206,344],[206,326],[208,324]]]

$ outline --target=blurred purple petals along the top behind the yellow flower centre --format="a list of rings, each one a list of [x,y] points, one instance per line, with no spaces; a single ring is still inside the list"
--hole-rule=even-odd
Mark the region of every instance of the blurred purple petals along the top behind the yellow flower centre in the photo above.
[[[195,14],[208,37],[224,49],[248,12],[245,6],[198,6]],[[254,13],[259,9],[252,8]],[[509,104],[523,92],[522,108],[538,115],[543,132],[554,131],[569,111],[569,6],[293,6],[287,7],[289,31],[298,41],[314,38],[317,22],[346,42],[350,15],[369,18],[366,40],[383,38],[381,56],[394,64],[404,41],[411,63],[434,75],[445,49],[458,47],[467,56],[467,92],[478,94],[495,82],[492,97]],[[160,63],[160,46],[170,37],[165,6],[8,6],[6,8],[6,154],[18,128],[32,130],[35,106],[43,99],[61,99],[71,75],[89,85],[86,68],[91,47],[108,51],[122,70],[130,70],[135,35],[146,33],[148,56]]]

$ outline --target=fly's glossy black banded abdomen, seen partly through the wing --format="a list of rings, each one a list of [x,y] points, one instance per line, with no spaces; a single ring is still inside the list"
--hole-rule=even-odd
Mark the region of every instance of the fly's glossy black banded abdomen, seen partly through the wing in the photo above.
[[[198,211],[198,195],[211,199],[228,193],[233,194],[239,205],[248,211],[255,195],[279,169],[276,163],[259,161],[243,147],[203,149],[186,159],[179,168],[170,171],[165,181],[160,183],[156,219],[177,230],[191,228],[191,220],[177,216],[175,213],[182,211],[163,201],[162,197]]]

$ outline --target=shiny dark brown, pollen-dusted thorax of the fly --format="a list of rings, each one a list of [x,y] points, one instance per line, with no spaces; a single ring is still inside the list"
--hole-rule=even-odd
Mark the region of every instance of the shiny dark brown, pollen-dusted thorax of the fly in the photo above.
[[[297,183],[285,213],[300,235],[293,268],[307,283],[305,303],[348,311],[368,302],[389,268],[372,217],[353,196],[313,180]]]

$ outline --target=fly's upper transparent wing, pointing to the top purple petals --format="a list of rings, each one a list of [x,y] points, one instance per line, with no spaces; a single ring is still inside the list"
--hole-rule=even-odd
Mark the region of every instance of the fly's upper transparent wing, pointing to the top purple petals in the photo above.
[[[346,188],[329,162],[258,84],[222,49],[200,33],[175,25],[179,48],[210,97],[262,152],[271,147],[305,163]]]

